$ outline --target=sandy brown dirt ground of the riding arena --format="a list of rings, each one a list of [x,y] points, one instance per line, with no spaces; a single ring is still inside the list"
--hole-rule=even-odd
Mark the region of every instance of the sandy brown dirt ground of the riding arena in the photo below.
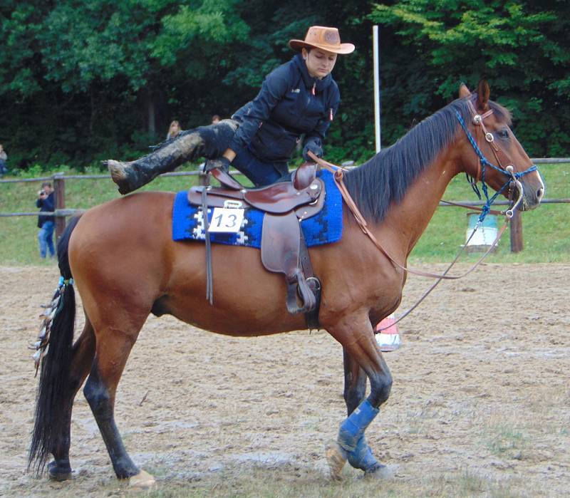
[[[51,483],[25,472],[36,388],[26,346],[57,281],[55,266],[0,267],[0,495],[100,496],[116,482],[81,393],[76,478]],[[429,284],[412,276],[400,309]],[[367,431],[399,489],[423,494],[426,479],[464,473],[509,496],[568,495],[569,302],[569,265],[488,264],[440,284],[400,323],[403,347],[385,354],[392,394]],[[159,485],[207,489],[213,475],[231,480],[252,468],[268,479],[280,467],[326,479],[323,447],[346,416],[342,391],[341,346],[325,331],[227,338],[151,316],[116,417],[131,457]]]

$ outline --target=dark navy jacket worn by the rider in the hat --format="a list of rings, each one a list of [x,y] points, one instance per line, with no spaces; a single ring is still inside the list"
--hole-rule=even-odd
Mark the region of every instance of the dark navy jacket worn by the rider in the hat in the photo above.
[[[232,116],[240,124],[229,147],[249,145],[256,157],[268,162],[289,160],[302,134],[305,143],[321,145],[340,101],[332,76],[312,78],[299,54],[271,71],[257,97]]]

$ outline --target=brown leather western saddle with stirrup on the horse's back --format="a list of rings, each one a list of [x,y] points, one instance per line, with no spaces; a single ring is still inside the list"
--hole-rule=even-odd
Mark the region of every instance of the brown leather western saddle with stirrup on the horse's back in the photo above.
[[[313,275],[299,224],[323,209],[325,187],[316,178],[316,165],[306,162],[291,174],[291,180],[255,189],[244,187],[222,170],[211,173],[221,186],[192,187],[190,204],[203,207],[205,197],[207,207],[254,207],[264,212],[261,262],[267,270],[285,275],[289,313],[306,313],[308,325],[316,328],[321,283]]]

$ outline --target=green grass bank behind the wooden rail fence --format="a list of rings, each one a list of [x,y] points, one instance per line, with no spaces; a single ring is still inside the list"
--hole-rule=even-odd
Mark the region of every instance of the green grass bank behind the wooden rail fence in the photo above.
[[[195,169],[187,166],[182,169]],[[60,171],[68,175],[77,172],[67,167]],[[55,171],[53,171],[55,172]],[[53,172],[41,172],[37,169],[24,173],[30,177],[46,177]],[[100,173],[98,170],[87,173]],[[570,165],[541,165],[541,175],[546,185],[546,197],[549,199],[568,197],[570,192]],[[10,178],[10,177],[6,177]],[[475,200],[463,175],[458,175],[450,183],[444,199]],[[244,177],[239,180],[245,182]],[[144,190],[167,190],[177,192],[197,183],[197,177],[158,177],[142,187]],[[31,212],[35,213],[36,193],[41,182],[2,183],[0,184],[0,213]],[[110,199],[120,197],[110,179],[78,179],[66,181],[66,207],[87,209]],[[465,243],[467,217],[465,209],[440,207],[432,221],[410,255],[412,266],[421,263],[451,261],[461,244]],[[489,263],[536,263],[570,261],[570,204],[544,204],[522,216],[524,250],[512,254],[509,249],[508,230],[499,244],[499,250],[487,258]],[[42,261],[38,256],[37,217],[0,217],[0,264],[20,266],[26,264],[54,264]],[[499,220],[499,223],[501,221]],[[476,254],[465,254],[462,261],[476,261]]]

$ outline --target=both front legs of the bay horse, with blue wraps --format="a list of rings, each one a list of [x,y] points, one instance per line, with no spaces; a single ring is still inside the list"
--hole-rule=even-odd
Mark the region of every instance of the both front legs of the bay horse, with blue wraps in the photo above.
[[[366,318],[358,322],[361,327],[354,331],[353,326],[338,324],[329,333],[343,345],[345,389],[344,398],[348,417],[341,424],[336,442],[327,448],[327,460],[331,476],[340,479],[346,460],[355,468],[364,470],[367,475],[388,477],[384,465],[378,463],[372,454],[364,432],[378,415],[379,407],[390,395],[392,377],[377,343],[370,321]],[[371,393],[366,392],[366,376],[371,381]]]

